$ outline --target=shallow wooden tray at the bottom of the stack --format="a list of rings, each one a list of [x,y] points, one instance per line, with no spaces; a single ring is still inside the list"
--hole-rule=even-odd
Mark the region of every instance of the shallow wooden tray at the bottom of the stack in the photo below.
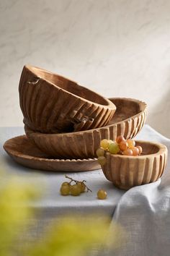
[[[4,150],[14,161],[29,168],[45,171],[92,171],[99,169],[97,159],[63,160],[51,159],[42,153],[25,135],[14,137],[4,143]]]

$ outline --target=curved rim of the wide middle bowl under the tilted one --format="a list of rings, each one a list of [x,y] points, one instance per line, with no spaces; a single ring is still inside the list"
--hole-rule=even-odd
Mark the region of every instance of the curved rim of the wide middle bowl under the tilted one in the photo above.
[[[128,121],[129,119],[135,119],[135,117],[139,116],[140,114],[144,113],[147,109],[147,104],[144,102],[144,101],[140,101],[140,100],[137,100],[135,98],[121,98],[121,97],[118,97],[118,98],[109,98],[109,100],[122,100],[122,101],[132,101],[132,102],[135,102],[135,103],[138,103],[138,105],[140,106],[140,111],[138,114],[135,114],[134,116],[130,116],[130,118],[128,119],[124,119],[122,121]],[[118,121],[117,123],[115,123],[116,125],[117,124],[120,124],[122,123],[122,121]],[[90,132],[94,132],[94,131],[99,131],[101,129],[107,129],[108,127],[112,127],[113,125],[115,124],[108,124],[104,127],[98,127],[98,128],[94,128],[94,129],[87,129],[87,130],[84,130],[84,131],[78,131],[78,132],[65,132],[65,133],[42,133],[42,132],[35,132],[33,131],[32,129],[30,129],[30,127],[28,127],[27,125],[24,125],[24,129],[26,130],[27,129],[27,132],[31,133],[31,134],[35,134],[36,136],[45,136],[45,137],[55,137],[55,136],[58,136],[58,137],[63,137],[64,136],[70,136],[70,135],[83,135],[83,134],[86,134],[86,133],[90,133]]]

